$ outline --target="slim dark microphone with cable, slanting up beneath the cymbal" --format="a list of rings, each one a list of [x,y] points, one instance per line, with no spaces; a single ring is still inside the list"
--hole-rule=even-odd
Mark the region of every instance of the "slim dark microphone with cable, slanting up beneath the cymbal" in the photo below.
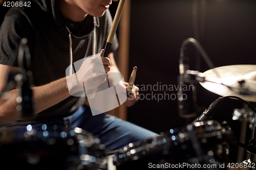
[[[211,116],[214,115],[216,110],[220,107],[220,103],[223,100],[223,98],[225,98],[225,96],[222,96],[214,102],[212,102],[210,106],[207,109],[205,109],[205,111],[190,124],[190,126],[194,126],[196,122],[209,120]]]

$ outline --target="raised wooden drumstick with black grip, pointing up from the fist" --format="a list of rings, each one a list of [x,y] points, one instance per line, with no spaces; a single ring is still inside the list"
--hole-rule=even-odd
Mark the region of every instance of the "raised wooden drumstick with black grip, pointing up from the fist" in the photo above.
[[[110,47],[113,42],[119,20],[121,18],[122,12],[123,12],[124,4],[125,4],[125,0],[120,0],[119,5],[116,10],[116,15],[114,17],[114,20],[113,20],[113,23],[112,23],[112,26],[110,29],[108,39],[106,40],[106,45],[105,45],[102,57],[108,57],[108,55],[109,55]]]

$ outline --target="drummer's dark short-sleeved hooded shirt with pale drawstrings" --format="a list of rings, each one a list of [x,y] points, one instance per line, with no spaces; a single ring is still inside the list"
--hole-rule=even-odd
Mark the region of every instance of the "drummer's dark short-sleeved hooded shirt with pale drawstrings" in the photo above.
[[[96,53],[104,48],[112,26],[106,10],[95,19],[88,15],[82,22],[73,22],[61,14],[58,0],[33,0],[30,7],[12,7],[0,28],[0,64],[18,66],[14,50],[22,38],[28,39],[31,53],[33,84],[41,86],[66,77],[70,65],[72,37],[73,63],[93,55],[93,29],[96,28]],[[116,36],[111,52],[118,48]],[[72,114],[84,104],[84,97],[70,96],[62,102],[34,115],[29,120],[18,120],[0,127],[47,122]]]

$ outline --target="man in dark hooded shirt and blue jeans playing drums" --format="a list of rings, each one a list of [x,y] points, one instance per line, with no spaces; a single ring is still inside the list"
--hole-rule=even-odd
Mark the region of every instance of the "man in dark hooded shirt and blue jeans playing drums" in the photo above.
[[[93,47],[100,53],[112,25],[108,10],[111,0],[32,0],[30,6],[28,2],[26,6],[25,1],[20,2],[19,7],[11,8],[6,14],[0,29],[0,91],[6,85],[11,67],[18,66],[13,52],[25,37],[31,52],[35,115],[27,119],[18,116],[18,90],[12,89],[7,99],[0,99],[0,132],[28,124],[33,128],[42,124],[80,127],[98,135],[110,150],[157,135],[115,116],[104,113],[92,116],[90,107],[83,105],[85,98],[69,93],[66,68],[70,61],[91,56]],[[108,58],[101,57],[105,72],[119,72],[114,60],[117,47],[115,38]],[[86,65],[80,69],[83,67]],[[105,80],[99,77],[97,81],[103,82],[102,79]],[[134,87],[133,96],[124,105],[130,107],[137,101],[138,87]]]

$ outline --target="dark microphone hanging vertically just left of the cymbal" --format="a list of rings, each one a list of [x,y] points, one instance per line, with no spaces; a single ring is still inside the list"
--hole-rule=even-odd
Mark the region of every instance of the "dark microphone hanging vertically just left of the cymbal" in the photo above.
[[[179,116],[182,118],[195,117],[197,115],[196,109],[196,87],[194,86],[191,76],[187,74],[189,71],[188,57],[181,48],[181,56],[179,60],[180,75],[178,82],[180,82],[180,88],[178,92],[178,111]]]

